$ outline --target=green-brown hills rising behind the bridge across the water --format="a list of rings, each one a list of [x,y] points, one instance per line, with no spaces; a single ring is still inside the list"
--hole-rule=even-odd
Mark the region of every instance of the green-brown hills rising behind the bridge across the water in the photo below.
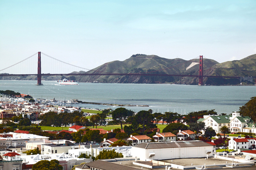
[[[204,59],[204,75],[212,76],[256,76],[256,54],[241,60],[218,63]],[[198,75],[199,59],[166,59],[157,55],[136,54],[124,61],[111,61],[88,72],[73,73],[148,73]],[[42,76],[42,80],[59,80],[64,76]],[[176,76],[67,76],[70,80],[98,83],[175,83],[197,85],[198,78]],[[2,80],[37,80],[30,77],[0,77]],[[237,85],[238,79],[204,78],[204,84]],[[249,83],[250,84],[250,83]],[[252,83],[251,83],[252,84]]]

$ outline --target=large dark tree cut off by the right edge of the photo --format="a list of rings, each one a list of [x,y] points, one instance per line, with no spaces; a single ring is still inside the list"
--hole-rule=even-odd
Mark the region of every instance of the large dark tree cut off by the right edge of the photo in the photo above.
[[[252,120],[256,121],[256,97],[252,97],[249,102],[245,103],[244,106],[240,107],[240,113],[243,116],[249,116]]]

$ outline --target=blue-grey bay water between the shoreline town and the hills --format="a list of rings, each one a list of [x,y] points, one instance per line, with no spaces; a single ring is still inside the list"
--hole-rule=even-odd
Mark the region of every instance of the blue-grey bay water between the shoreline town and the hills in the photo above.
[[[85,102],[109,104],[149,105],[150,107],[126,107],[133,111],[174,111],[186,114],[191,111],[212,110],[230,114],[239,111],[256,96],[256,86],[198,86],[171,84],[117,84],[79,83],[79,85],[56,85],[55,81],[0,80],[0,90],[13,90],[30,94],[34,98],[56,100],[79,99]],[[77,104],[89,108],[113,108],[107,105]]]

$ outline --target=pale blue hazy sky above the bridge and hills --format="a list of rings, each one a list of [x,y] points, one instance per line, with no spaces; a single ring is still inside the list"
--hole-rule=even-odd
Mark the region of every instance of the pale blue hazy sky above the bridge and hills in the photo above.
[[[38,51],[89,69],[137,53],[242,59],[256,53],[256,1],[0,0],[0,69]]]

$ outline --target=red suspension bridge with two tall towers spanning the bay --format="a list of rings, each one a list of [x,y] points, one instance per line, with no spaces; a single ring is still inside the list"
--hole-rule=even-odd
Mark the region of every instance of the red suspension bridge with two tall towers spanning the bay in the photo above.
[[[0,74],[0,76],[37,76],[37,85],[43,85],[41,80],[42,80],[42,76],[179,76],[179,77],[197,77],[199,78],[199,83],[198,85],[203,85],[203,78],[204,77],[208,77],[208,78],[234,78],[234,79],[240,79],[241,76],[207,76],[203,74],[203,56],[200,55],[199,58],[199,74],[198,75],[182,75],[182,74],[152,74],[152,72],[145,72],[145,73],[110,73],[110,72],[101,72],[101,71],[97,71],[97,70],[90,70],[90,69],[86,69],[86,68],[82,68],[79,66],[75,66],[73,64],[70,63],[66,63],[64,61],[61,61],[59,59],[55,59],[47,54],[44,54],[45,56],[47,56],[48,58],[54,59],[60,63],[64,63],[67,64],[69,66],[73,66],[79,69],[86,69],[86,70],[90,70],[90,71],[94,71],[94,73],[42,73],[42,65],[41,65],[41,52],[35,53],[33,55],[31,55],[30,57],[16,63],[13,64],[7,68],[4,68],[2,70],[0,70],[0,72],[3,72],[7,69],[12,68],[13,70],[17,70],[14,68],[14,66],[24,62],[25,60],[28,60],[30,58],[32,58],[33,56],[35,56],[36,54],[38,54],[37,57],[37,73],[29,73],[29,74],[13,74],[13,73],[2,73]],[[21,66],[23,69],[28,70],[29,68],[31,68],[31,66],[35,63],[36,61],[30,61],[29,64],[27,64],[26,66]],[[57,66],[56,64],[49,64],[49,62],[46,62],[48,65],[50,65],[51,67],[56,67],[58,70],[60,70],[60,68],[64,68],[63,66]],[[14,68],[14,69],[13,69]],[[162,69],[163,70],[163,69]],[[18,70],[19,71],[19,70]],[[62,70],[63,71],[63,70]],[[159,71],[159,70],[157,70]],[[64,72],[64,71],[63,71]],[[256,76],[252,76],[253,78],[256,78]]]

